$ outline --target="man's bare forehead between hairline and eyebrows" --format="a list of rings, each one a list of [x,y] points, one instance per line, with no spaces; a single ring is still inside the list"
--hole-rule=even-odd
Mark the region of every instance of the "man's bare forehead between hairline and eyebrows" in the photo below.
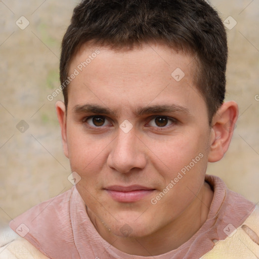
[[[68,87],[68,103],[95,100],[108,107],[127,103],[136,108],[161,102],[186,106],[191,99],[204,102],[194,85],[193,60],[159,44],[132,50],[84,45],[69,67],[69,75],[77,75]]]

